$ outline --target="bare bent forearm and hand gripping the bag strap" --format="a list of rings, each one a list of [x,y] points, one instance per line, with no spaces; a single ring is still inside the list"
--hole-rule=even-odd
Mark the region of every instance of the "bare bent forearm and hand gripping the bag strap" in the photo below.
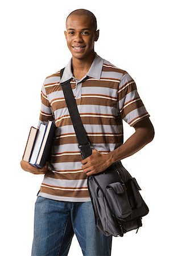
[[[135,133],[115,150],[108,154],[101,154],[97,150],[93,150],[92,155],[82,160],[82,170],[85,174],[89,176],[106,170],[111,164],[135,154],[154,138],[154,127],[150,119],[140,121],[134,128]]]

